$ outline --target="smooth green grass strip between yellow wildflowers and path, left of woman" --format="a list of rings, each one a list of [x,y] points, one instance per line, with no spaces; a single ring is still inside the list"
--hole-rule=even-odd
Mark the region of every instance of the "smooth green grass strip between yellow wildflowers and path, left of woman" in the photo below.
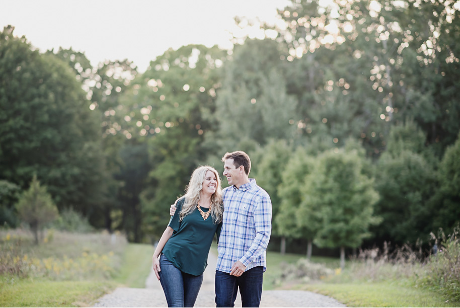
[[[145,287],[153,254],[154,247],[151,245],[129,244],[124,252],[123,267],[115,281],[131,288]]]

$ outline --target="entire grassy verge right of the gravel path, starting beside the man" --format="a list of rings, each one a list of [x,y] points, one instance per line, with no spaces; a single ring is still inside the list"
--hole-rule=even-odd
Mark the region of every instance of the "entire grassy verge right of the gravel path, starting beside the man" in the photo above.
[[[353,279],[350,271],[352,263],[347,262],[345,272],[335,271],[333,277],[312,280],[305,283],[302,279],[281,279],[286,271],[297,266],[302,255],[267,252],[267,271],[264,274],[264,290],[295,289],[306,290],[331,296],[350,307],[458,307],[458,302],[446,301],[446,297],[425,287],[416,286],[407,278],[391,278],[383,281],[371,279]],[[339,267],[337,258],[312,257],[315,264],[323,264],[334,270]],[[397,267],[386,270],[400,270]]]

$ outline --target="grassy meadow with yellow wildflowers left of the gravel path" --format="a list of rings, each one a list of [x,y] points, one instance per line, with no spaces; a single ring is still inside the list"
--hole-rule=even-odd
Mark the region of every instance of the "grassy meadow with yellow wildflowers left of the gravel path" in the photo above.
[[[151,245],[108,234],[55,232],[39,247],[27,233],[0,232],[0,307],[91,306],[117,286],[144,287]],[[4,267],[5,268],[5,267]],[[7,274],[15,272],[14,274]]]

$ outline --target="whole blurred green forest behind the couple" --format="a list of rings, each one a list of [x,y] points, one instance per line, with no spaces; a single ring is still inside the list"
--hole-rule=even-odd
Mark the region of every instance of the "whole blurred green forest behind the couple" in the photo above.
[[[6,27],[0,223],[21,223],[35,175],[60,213],[155,243],[192,171],[240,149],[272,199],[269,249],[429,251],[460,221],[459,10],[293,1],[265,39],[170,49],[143,73]]]

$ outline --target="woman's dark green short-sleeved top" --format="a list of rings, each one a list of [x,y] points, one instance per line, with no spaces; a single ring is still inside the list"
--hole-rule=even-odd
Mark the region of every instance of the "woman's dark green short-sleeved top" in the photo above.
[[[214,224],[211,215],[203,220],[197,208],[179,221],[183,204],[184,198],[176,204],[176,212],[168,224],[174,232],[162,252],[182,272],[199,276],[208,265],[209,248],[214,234],[217,234],[219,241],[222,222]],[[207,212],[209,209],[201,207],[201,210]]]

